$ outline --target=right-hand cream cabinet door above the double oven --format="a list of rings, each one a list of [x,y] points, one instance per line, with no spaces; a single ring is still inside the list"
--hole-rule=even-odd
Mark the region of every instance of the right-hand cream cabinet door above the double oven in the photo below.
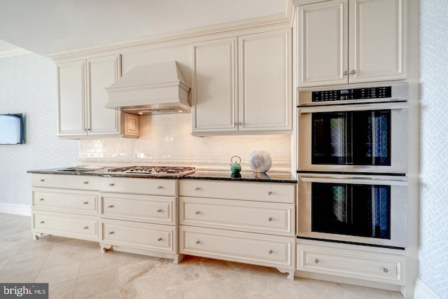
[[[406,78],[405,2],[350,0],[350,83]]]

